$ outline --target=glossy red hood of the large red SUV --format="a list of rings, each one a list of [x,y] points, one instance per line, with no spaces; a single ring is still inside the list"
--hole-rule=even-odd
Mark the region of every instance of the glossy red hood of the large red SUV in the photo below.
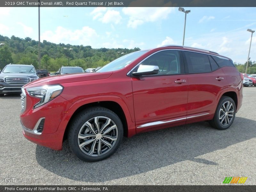
[[[102,72],[102,73],[74,73],[65,75],[56,75],[50,77],[44,77],[37,79],[31,83],[25,85],[25,88],[43,86],[43,85],[53,85],[53,84],[64,84],[64,83],[74,83],[81,81],[92,81],[99,79],[107,79],[113,74],[113,72]]]

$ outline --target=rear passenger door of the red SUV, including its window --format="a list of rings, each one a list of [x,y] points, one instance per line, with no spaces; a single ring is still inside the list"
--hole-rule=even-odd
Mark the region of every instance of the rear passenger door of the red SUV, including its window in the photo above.
[[[222,69],[209,54],[183,51],[188,77],[188,121],[215,113],[217,96],[227,85]]]

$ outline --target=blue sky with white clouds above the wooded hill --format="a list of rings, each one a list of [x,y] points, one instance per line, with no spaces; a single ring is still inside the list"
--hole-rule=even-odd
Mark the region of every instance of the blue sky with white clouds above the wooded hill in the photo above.
[[[184,46],[247,61],[256,7],[184,7]],[[182,45],[185,13],[178,7],[40,7],[40,40],[92,48]],[[0,35],[38,40],[37,7],[0,7]],[[256,33],[250,58],[256,60]]]

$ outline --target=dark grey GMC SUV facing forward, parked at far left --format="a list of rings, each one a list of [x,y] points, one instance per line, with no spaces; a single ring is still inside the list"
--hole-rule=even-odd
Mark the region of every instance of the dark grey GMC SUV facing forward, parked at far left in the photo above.
[[[37,72],[40,75],[41,71]],[[38,79],[33,65],[6,65],[0,72],[0,97],[7,93],[21,92],[21,87]]]

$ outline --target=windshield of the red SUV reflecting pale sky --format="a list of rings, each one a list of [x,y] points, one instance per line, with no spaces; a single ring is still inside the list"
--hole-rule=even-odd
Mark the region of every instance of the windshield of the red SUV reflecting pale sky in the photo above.
[[[119,57],[118,59],[113,60],[112,62],[97,70],[97,72],[108,72],[122,69],[148,51],[149,50],[132,52],[122,57]]]

